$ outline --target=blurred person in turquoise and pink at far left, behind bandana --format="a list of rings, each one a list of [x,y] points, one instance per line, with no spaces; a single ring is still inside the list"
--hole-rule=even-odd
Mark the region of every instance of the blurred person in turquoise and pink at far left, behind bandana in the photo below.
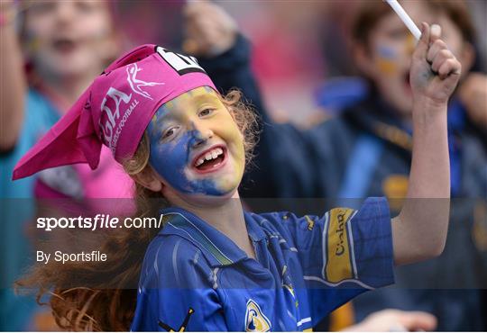
[[[133,181],[104,147],[100,166],[63,166],[12,183],[15,163],[68,111],[120,52],[111,1],[0,3],[0,199],[3,330],[53,329],[33,321],[35,304],[14,296],[12,284],[32,256],[26,229],[37,198],[130,198]],[[17,23],[17,24],[16,24]],[[19,28],[16,29],[16,25]],[[6,199],[15,199],[9,200]],[[20,200],[23,199],[23,200]],[[21,208],[22,206],[22,208]]]

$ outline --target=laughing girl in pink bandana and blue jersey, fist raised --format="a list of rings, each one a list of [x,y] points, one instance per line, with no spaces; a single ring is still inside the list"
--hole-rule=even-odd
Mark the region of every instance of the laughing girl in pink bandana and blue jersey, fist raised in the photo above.
[[[151,197],[169,203],[164,228],[110,230],[123,235],[103,248],[106,263],[40,266],[23,285],[52,290],[65,329],[295,331],[391,284],[393,263],[438,255],[448,220],[446,102],[460,65],[439,31],[426,23],[422,31],[410,74],[421,144],[408,194],[422,200],[406,202],[393,223],[383,198],[321,218],[243,211],[237,188],[249,128],[241,104],[219,96],[194,58],[146,45],[98,76],[14,178],[69,163],[96,167],[103,143],[137,182],[142,216],[154,213]],[[110,283],[66,287],[100,272]],[[136,292],[127,290],[136,279]]]

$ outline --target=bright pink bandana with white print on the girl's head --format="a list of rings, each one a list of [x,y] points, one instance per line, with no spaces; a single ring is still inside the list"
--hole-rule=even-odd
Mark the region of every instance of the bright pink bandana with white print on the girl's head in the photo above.
[[[199,86],[216,90],[196,58],[142,45],[118,58],[14,168],[13,179],[75,163],[98,166],[101,145],[133,157],[161,104]]]

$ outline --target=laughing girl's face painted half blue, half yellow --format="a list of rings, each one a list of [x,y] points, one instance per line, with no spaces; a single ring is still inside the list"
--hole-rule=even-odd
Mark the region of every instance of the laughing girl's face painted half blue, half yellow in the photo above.
[[[198,87],[164,103],[148,128],[149,162],[170,189],[234,193],[245,164],[243,135],[216,92]]]

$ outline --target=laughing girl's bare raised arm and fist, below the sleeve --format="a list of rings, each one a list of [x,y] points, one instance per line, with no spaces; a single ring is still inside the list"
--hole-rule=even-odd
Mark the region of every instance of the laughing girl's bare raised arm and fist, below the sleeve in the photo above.
[[[413,54],[413,154],[408,196],[392,220],[394,260],[407,264],[443,251],[450,206],[450,166],[446,108],[460,77],[461,65],[440,40],[441,28],[421,25]]]

